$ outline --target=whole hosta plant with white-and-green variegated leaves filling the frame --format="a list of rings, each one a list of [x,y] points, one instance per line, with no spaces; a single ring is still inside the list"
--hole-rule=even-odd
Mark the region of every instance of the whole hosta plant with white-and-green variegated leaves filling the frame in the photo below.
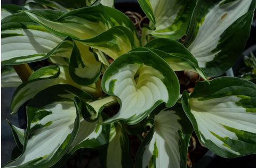
[[[99,150],[101,167],[186,167],[193,131],[219,156],[256,153],[256,85],[219,77],[243,52],[256,1],[138,3],[141,37],[113,0],[2,5],[2,86],[18,86],[11,113],[27,112],[26,129],[9,122],[17,158],[4,167],[58,167],[81,148]],[[192,93],[185,70],[204,79]]]

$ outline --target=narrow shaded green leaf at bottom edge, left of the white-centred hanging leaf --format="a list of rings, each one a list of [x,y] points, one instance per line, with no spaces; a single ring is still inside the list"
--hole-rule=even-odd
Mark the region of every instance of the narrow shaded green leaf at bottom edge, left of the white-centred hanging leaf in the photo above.
[[[112,123],[107,150],[101,154],[104,167],[132,167],[129,139],[119,122]]]

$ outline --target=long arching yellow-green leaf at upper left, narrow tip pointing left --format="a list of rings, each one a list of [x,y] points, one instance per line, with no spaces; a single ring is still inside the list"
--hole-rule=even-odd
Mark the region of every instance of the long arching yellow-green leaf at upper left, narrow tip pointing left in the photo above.
[[[44,16],[42,16],[42,11],[25,12],[31,19],[58,36],[71,36],[75,39],[89,39],[114,26],[124,26],[133,32],[135,44],[140,45],[137,31],[131,20],[122,12],[108,6],[99,4],[77,9],[58,15],[59,18],[55,18],[54,20],[50,15],[52,13],[48,13],[48,11],[45,11]]]

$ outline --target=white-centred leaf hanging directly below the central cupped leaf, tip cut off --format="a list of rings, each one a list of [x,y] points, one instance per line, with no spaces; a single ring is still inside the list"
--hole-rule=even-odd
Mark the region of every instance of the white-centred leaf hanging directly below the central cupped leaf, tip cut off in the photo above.
[[[181,104],[172,108],[160,105],[155,110],[154,126],[142,141],[137,167],[187,167],[187,150],[193,131]]]

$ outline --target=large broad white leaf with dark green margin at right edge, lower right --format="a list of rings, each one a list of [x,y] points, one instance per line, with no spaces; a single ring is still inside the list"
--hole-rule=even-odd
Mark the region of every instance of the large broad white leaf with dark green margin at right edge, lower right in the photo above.
[[[220,77],[198,82],[193,93],[182,95],[182,106],[197,137],[222,157],[256,153],[256,85]]]

